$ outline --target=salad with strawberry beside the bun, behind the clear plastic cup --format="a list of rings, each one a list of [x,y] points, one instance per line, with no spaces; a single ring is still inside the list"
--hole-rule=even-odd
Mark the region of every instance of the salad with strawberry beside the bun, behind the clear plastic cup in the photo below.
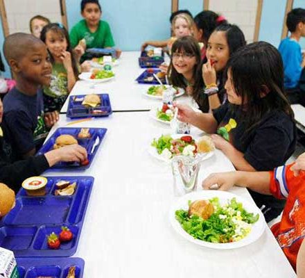
[[[154,139],[151,145],[157,149],[160,156],[166,159],[178,155],[195,156],[197,153],[195,140],[191,136],[174,139],[170,135],[162,135],[157,140]]]

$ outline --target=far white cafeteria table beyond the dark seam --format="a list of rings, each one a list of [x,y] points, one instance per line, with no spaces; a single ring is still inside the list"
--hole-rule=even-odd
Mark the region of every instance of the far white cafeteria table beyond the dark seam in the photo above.
[[[107,93],[110,95],[113,111],[148,111],[150,108],[159,106],[159,100],[149,99],[143,95],[150,85],[139,84],[135,81],[145,70],[139,67],[139,55],[139,51],[123,52],[119,59],[119,65],[113,67],[116,74],[113,80],[105,83],[77,81],[70,96]],[[177,99],[186,100],[188,98],[182,96]],[[62,106],[61,113],[67,112],[68,101],[69,98]]]

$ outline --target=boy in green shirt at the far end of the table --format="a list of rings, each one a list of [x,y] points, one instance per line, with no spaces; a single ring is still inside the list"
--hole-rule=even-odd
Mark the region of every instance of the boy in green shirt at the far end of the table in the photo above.
[[[110,48],[114,47],[114,40],[107,22],[101,20],[102,10],[98,0],[82,0],[80,3],[82,19],[73,26],[70,33],[71,46],[82,53],[85,48]],[[121,51],[116,49],[116,56],[119,57]],[[88,56],[82,55],[81,60],[86,60]]]

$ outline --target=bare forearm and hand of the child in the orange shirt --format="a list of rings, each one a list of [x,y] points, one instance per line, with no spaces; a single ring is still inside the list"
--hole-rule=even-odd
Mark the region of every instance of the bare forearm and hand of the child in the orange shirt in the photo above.
[[[210,174],[202,181],[202,188],[210,189],[215,184],[220,190],[229,190],[232,186],[250,188],[258,193],[271,195],[270,193],[270,173],[269,172],[227,172]]]

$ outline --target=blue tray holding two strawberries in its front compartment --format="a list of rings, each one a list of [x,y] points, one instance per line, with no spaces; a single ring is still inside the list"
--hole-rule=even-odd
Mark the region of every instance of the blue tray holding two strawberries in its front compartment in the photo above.
[[[0,246],[12,250],[15,256],[71,256],[78,246],[82,223],[94,183],[93,177],[47,177],[46,195],[28,196],[21,188],[16,205],[0,222]],[[71,196],[56,196],[55,183],[76,182]],[[73,238],[61,243],[58,250],[48,247],[47,236],[60,234],[67,226]]]

